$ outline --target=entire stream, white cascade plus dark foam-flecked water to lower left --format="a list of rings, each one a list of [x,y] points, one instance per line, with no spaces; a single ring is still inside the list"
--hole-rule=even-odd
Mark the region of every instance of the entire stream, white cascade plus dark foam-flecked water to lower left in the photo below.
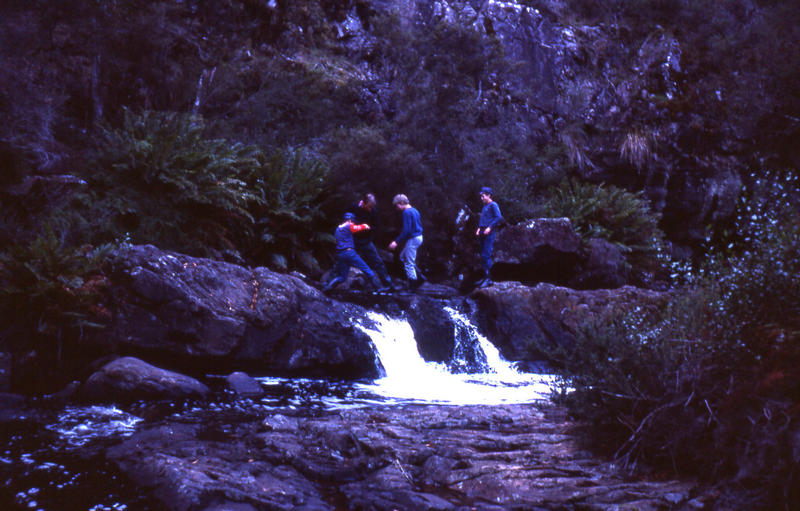
[[[148,421],[217,421],[398,403],[495,405],[548,399],[551,376],[523,373],[454,309],[455,355],[420,357],[404,319],[371,312],[357,321],[373,340],[385,375],[374,381],[258,378],[265,395],[242,398],[219,389],[210,402],[34,408],[0,422],[0,509],[158,509],[105,461],[106,446]],[[213,378],[220,380],[220,378]]]

